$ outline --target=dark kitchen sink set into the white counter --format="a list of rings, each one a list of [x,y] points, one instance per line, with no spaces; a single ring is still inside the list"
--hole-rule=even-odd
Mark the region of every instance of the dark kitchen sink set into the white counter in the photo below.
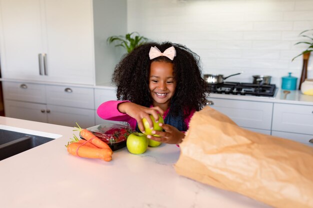
[[[52,140],[54,139],[0,129],[0,160]]]

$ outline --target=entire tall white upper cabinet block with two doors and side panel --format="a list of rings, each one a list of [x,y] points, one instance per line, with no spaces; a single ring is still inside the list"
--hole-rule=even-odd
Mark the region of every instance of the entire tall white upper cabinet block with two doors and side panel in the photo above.
[[[105,40],[126,33],[126,0],[0,0],[0,17],[3,79],[105,83],[122,54]]]

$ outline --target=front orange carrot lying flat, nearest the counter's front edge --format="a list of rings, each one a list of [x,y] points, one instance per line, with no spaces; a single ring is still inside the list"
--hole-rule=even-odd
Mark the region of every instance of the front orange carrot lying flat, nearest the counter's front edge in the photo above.
[[[107,162],[112,160],[112,151],[110,149],[99,149],[85,145],[81,146],[78,142],[70,143],[67,146],[67,152],[81,158],[98,158]]]

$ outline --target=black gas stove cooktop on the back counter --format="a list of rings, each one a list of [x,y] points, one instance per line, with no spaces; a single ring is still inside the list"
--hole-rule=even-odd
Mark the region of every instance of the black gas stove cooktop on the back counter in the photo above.
[[[273,98],[276,91],[274,84],[252,84],[239,82],[223,82],[220,84],[207,84],[206,90],[210,93],[252,95]]]

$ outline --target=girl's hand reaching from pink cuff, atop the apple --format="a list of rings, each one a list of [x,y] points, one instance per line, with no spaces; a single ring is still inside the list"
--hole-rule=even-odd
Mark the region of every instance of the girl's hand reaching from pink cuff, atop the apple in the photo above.
[[[119,103],[117,109],[121,113],[126,113],[128,116],[136,119],[139,129],[144,129],[142,119],[145,118],[149,123],[151,129],[153,129],[153,123],[149,115],[152,115],[155,121],[158,121],[158,114],[163,117],[163,110],[156,106],[147,108],[141,105],[137,105],[131,102]]]

